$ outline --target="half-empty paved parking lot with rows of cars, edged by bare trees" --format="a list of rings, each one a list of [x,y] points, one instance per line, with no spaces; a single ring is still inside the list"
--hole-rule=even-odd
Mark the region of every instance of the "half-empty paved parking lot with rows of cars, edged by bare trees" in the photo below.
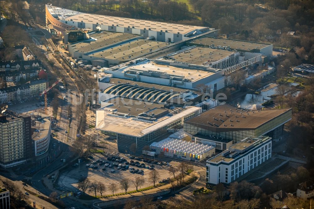
[[[130,163],[130,161],[133,160],[134,162],[138,161],[138,163],[140,163],[140,164],[144,163],[145,168],[139,168],[137,166],[129,165],[129,168],[143,170],[143,173],[141,173],[141,174],[134,173],[134,172],[131,173],[129,171],[129,169],[118,170],[117,165],[112,166],[110,168],[108,165],[105,166],[105,164],[102,164],[102,163],[100,163],[101,165],[99,165],[99,163],[96,163],[96,162],[92,163],[93,161],[98,160],[98,159],[104,160],[105,162],[108,162],[108,163],[117,163],[117,164],[122,164],[122,165],[126,165],[125,162]],[[143,178],[145,180],[145,183],[144,183],[144,185],[141,186],[141,188],[153,185],[153,183],[149,180],[150,169],[146,168],[146,166],[150,167],[151,163],[143,162],[143,160],[138,160],[138,159],[130,159],[127,157],[125,157],[125,160],[126,161],[119,163],[119,162],[116,162],[116,160],[114,160],[114,161],[108,160],[107,157],[102,156],[102,155],[99,158],[94,156],[94,159],[89,159],[89,161],[87,161],[87,162],[80,163],[79,167],[77,165],[76,166],[73,165],[72,169],[69,169],[68,171],[60,174],[59,180],[58,180],[58,186],[64,187],[68,190],[75,191],[75,190],[78,190],[76,188],[78,181],[83,180],[86,177],[88,177],[89,180],[91,180],[91,181],[100,181],[100,182],[104,183],[106,185],[106,188],[109,187],[109,184],[111,182],[115,182],[119,188],[119,190],[116,193],[121,193],[121,192],[123,192],[123,190],[120,189],[119,181],[123,178],[128,178],[130,180],[133,180],[137,176],[143,176]],[[89,166],[87,167],[86,164],[98,166],[98,168],[93,169],[93,168],[90,168]],[[168,177],[171,177],[171,174],[168,172],[167,165],[153,164],[153,166],[154,166],[154,169],[159,171],[160,180],[167,179]],[[103,168],[105,168],[106,170],[102,170]],[[114,171],[111,172],[111,170],[114,170]],[[133,185],[133,183],[130,182],[130,187],[129,187],[128,191],[132,191],[135,189],[136,188]],[[110,193],[111,192],[108,190],[105,192],[105,194],[110,194]],[[93,195],[93,193],[90,193],[90,195]]]

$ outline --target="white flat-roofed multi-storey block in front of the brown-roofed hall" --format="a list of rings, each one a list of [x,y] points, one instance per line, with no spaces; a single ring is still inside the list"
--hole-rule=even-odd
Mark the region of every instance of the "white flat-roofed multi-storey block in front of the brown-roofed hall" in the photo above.
[[[248,137],[207,160],[206,184],[231,183],[271,158],[270,137]]]

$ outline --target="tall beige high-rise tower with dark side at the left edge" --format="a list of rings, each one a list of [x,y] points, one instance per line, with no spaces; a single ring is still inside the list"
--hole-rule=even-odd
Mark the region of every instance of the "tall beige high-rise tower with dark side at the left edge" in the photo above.
[[[0,115],[0,166],[9,168],[24,163],[30,157],[26,147],[31,140],[28,115]]]

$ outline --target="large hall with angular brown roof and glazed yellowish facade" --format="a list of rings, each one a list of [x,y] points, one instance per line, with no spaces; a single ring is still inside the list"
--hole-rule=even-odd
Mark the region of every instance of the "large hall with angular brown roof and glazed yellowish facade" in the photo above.
[[[184,131],[214,137],[232,139],[234,143],[246,137],[267,135],[273,140],[282,137],[283,125],[291,120],[292,110],[246,110],[222,103],[186,121]]]

